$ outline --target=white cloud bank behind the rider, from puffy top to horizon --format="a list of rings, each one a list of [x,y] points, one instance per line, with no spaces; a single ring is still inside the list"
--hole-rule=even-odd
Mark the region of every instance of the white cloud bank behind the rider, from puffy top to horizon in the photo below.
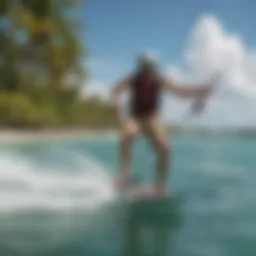
[[[256,52],[247,49],[242,38],[225,30],[212,15],[200,17],[190,31],[183,52],[183,66],[167,67],[166,73],[177,80],[202,82],[218,73],[221,84],[202,116],[188,120],[191,102],[171,97],[164,99],[166,121],[209,126],[256,125]],[[109,86],[93,83],[89,94],[108,97]]]

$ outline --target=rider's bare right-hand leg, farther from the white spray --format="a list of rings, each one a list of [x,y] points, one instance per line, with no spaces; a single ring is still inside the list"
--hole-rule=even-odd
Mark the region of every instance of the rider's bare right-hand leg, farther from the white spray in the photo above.
[[[162,193],[166,190],[169,171],[169,141],[165,127],[161,121],[152,117],[145,123],[147,134],[152,140],[157,153],[156,189]]]

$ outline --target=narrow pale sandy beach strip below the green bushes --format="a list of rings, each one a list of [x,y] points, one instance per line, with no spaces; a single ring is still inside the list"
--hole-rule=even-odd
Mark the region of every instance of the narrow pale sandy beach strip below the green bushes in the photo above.
[[[17,130],[0,129],[0,144],[33,142],[42,140],[62,139],[100,139],[116,137],[117,129],[40,129],[40,130]]]

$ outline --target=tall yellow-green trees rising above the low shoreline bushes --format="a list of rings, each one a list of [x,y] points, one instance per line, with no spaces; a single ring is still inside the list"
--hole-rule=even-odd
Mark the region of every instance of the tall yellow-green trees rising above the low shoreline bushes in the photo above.
[[[82,46],[79,33],[75,32],[79,19],[66,14],[72,8],[75,13],[79,2],[0,1],[0,18],[8,20],[7,29],[0,30],[2,86],[17,89],[18,83],[21,84],[19,75],[27,71],[34,74],[35,83],[43,73],[55,88],[63,88],[67,77],[75,78],[77,85],[81,83]],[[23,43],[19,42],[21,34],[25,38]],[[33,84],[32,77],[24,84]]]

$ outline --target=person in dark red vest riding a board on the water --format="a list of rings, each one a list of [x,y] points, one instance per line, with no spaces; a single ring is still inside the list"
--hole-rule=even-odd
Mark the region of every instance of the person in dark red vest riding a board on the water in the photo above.
[[[171,154],[166,127],[159,118],[160,95],[162,92],[170,92],[181,98],[194,97],[200,103],[195,104],[195,110],[199,111],[198,108],[203,108],[202,103],[211,88],[211,85],[181,86],[160,72],[153,56],[140,54],[135,72],[121,79],[111,91],[111,102],[116,111],[120,108],[121,93],[130,92],[129,116],[121,130],[120,172],[116,182],[118,187],[123,188],[129,184],[132,142],[138,135],[144,134],[151,140],[157,153],[154,193],[162,195],[166,192]]]

